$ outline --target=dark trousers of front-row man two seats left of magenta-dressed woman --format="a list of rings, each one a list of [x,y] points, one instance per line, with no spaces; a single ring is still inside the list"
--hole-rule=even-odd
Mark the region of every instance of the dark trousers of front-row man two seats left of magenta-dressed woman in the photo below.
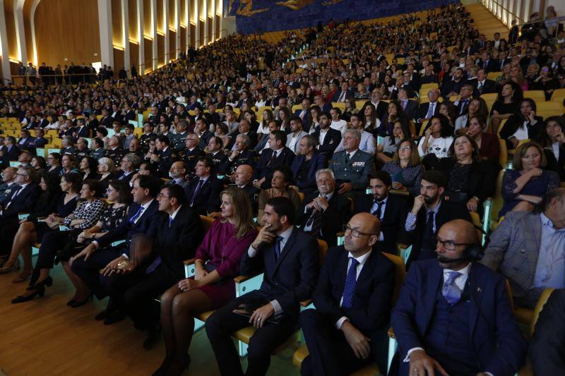
[[[103,248],[95,250],[88,260],[81,257],[73,261],[71,269],[80,277],[97,298],[105,298],[106,292],[100,283],[100,269],[117,259],[123,253],[122,248]]]

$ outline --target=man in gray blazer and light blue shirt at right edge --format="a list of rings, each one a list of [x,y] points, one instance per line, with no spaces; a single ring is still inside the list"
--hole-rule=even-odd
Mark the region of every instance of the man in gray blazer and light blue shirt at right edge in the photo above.
[[[534,308],[548,287],[565,288],[565,188],[547,193],[542,210],[506,213],[481,260],[509,279],[524,308]]]

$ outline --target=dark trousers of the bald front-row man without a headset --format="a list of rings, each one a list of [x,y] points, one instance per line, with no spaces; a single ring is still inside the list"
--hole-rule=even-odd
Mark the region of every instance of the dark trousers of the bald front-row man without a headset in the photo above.
[[[375,361],[374,346],[371,346],[369,358],[358,359],[343,333],[335,329],[335,323],[329,322],[319,311],[304,310],[300,327],[310,353],[302,362],[300,373],[303,376],[350,375]]]

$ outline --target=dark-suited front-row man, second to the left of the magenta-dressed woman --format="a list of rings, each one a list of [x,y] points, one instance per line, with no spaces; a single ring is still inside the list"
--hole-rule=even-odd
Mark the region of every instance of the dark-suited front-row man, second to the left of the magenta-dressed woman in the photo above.
[[[108,231],[105,235],[97,238],[87,245],[76,256],[71,257],[69,264],[73,273],[79,277],[88,289],[102,299],[107,291],[102,287],[100,281],[100,269],[108,267],[116,269],[122,262],[136,259],[136,255],[130,253],[130,245],[133,249],[140,245],[138,239],[153,239],[157,224],[159,222],[159,204],[155,198],[159,193],[160,181],[148,175],[139,175],[133,181],[133,204],[129,207],[128,215],[115,229]],[[114,241],[126,239],[124,243],[112,246]],[[143,243],[143,242],[141,242]],[[137,260],[133,260],[136,262]],[[119,310],[119,306],[109,301],[106,309],[96,315],[96,320],[105,320],[105,325],[123,320],[125,313]]]

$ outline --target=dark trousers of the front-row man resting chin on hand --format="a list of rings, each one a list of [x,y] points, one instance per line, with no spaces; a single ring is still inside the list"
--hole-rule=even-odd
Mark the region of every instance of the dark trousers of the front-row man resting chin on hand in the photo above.
[[[249,327],[249,318],[232,312],[240,304],[249,301],[247,295],[249,294],[227,303],[206,320],[206,334],[218,361],[220,374],[223,376],[244,375],[231,334]],[[265,326],[257,329],[247,348],[248,365],[245,375],[266,375],[270,365],[270,354],[283,344],[295,329],[297,329],[296,318],[284,319],[280,324],[266,323]]]

